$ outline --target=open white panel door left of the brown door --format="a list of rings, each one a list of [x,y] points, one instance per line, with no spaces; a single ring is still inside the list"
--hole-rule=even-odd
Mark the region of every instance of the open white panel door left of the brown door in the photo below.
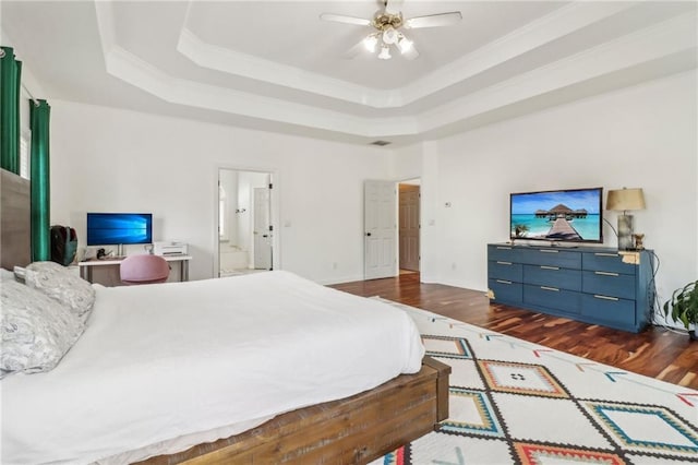
[[[365,279],[397,274],[396,198],[394,181],[365,181],[363,184]]]

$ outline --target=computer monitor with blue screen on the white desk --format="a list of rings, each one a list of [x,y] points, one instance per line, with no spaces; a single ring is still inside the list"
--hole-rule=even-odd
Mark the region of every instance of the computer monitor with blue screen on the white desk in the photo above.
[[[87,213],[87,246],[153,243],[152,213]]]

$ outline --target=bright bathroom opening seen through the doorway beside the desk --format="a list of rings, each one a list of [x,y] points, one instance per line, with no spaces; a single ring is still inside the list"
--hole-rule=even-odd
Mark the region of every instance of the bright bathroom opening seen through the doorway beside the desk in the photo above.
[[[218,169],[218,276],[273,269],[272,174]]]

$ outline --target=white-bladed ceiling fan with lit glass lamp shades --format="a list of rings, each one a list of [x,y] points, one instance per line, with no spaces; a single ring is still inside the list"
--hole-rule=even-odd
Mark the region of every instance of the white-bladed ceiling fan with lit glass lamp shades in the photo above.
[[[402,28],[417,29],[419,27],[448,26],[462,19],[459,11],[450,11],[405,20],[402,12],[395,8],[396,3],[401,3],[401,0],[381,0],[383,8],[376,11],[371,20],[333,13],[322,13],[320,19],[335,23],[372,26],[376,31],[370,33],[359,44],[349,49],[346,56],[347,58],[353,58],[362,48],[372,53],[375,52],[376,49],[380,49],[377,57],[382,60],[389,60],[392,58],[392,47],[397,47],[400,53],[408,60],[413,60],[419,57],[414,44],[405,35]]]

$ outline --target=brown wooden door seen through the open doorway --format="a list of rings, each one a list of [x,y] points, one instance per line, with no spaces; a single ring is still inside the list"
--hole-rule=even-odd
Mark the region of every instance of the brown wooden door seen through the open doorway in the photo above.
[[[400,274],[419,273],[420,180],[398,184],[398,264]]]

